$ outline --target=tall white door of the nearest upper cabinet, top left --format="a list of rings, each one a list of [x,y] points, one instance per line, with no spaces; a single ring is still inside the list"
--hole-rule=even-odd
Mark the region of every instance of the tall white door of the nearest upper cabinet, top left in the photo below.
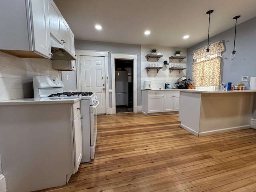
[[[33,50],[50,58],[50,23],[48,0],[30,0]]]

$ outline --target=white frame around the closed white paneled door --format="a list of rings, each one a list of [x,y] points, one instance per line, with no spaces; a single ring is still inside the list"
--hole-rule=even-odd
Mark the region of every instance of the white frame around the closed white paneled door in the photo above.
[[[77,57],[77,88],[78,91],[82,90],[82,84],[81,84],[81,62],[80,62],[80,56],[98,56],[98,57],[104,57],[105,58],[105,93],[106,93],[106,114],[110,114],[110,108],[109,108],[109,81],[108,81],[108,51],[92,51],[92,50],[80,50],[76,49],[75,54]],[[79,67],[78,67],[79,64]]]

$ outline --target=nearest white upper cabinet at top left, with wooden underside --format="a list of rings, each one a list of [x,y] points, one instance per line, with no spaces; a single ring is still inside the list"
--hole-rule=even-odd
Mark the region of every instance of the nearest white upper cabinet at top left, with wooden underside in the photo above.
[[[48,0],[8,0],[0,6],[0,51],[51,58]]]

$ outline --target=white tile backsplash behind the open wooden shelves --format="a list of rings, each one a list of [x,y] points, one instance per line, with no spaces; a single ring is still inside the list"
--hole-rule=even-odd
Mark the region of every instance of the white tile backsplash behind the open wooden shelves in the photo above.
[[[157,52],[163,55],[158,61],[157,58],[147,58],[145,57],[147,54],[151,54],[151,49],[157,48]],[[144,80],[151,80],[152,89],[159,89],[164,88],[164,84],[169,82],[170,87],[174,87],[174,83],[176,80],[182,76],[186,76],[186,69],[180,72],[179,70],[173,70],[170,73],[169,67],[172,65],[179,65],[181,64],[183,68],[186,68],[186,58],[179,62],[178,59],[172,60],[172,63],[169,57],[174,56],[174,52],[176,50],[181,50],[180,56],[186,56],[187,51],[186,49],[182,48],[172,48],[172,47],[162,47],[162,46],[155,46],[155,45],[142,45],[141,46],[141,87],[143,88]],[[164,61],[167,60],[169,63],[168,65],[164,64]],[[162,69],[157,72],[156,69],[150,69],[147,71],[146,67],[148,64],[156,64]]]

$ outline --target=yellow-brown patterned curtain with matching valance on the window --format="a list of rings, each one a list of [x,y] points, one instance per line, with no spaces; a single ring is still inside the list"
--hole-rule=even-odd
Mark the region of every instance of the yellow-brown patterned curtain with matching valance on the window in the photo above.
[[[194,51],[192,65],[193,86],[220,86],[220,55],[225,50],[221,41]]]

